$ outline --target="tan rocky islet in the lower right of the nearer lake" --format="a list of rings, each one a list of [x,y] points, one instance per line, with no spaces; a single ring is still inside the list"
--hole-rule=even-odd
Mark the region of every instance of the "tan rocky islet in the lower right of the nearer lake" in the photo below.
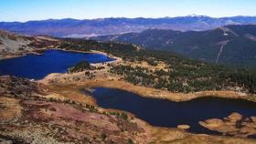
[[[207,129],[219,131],[223,135],[243,138],[256,135],[256,118],[245,118],[236,112],[230,114],[227,118],[211,118],[199,121],[199,124]]]

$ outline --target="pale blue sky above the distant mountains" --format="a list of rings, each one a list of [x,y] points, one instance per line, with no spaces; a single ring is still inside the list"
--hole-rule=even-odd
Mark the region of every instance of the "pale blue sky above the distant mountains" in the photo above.
[[[256,0],[0,0],[0,21],[256,15]]]

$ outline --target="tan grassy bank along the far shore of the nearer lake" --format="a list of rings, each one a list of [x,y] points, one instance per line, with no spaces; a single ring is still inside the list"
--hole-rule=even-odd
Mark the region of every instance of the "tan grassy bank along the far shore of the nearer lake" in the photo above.
[[[100,72],[101,73],[101,72]],[[79,88],[82,87],[108,87],[108,88],[116,88],[125,90],[128,92],[132,92],[133,94],[137,94],[144,98],[160,98],[160,99],[166,99],[170,101],[175,102],[183,102],[183,101],[189,101],[195,98],[205,98],[205,97],[217,97],[217,98],[240,98],[249,100],[252,102],[256,102],[255,99],[252,99],[248,95],[240,94],[235,91],[230,90],[209,90],[209,91],[200,91],[195,93],[173,93],[167,90],[161,90],[161,89],[155,89],[153,87],[142,87],[142,86],[135,86],[129,82],[126,82],[124,80],[120,80],[118,77],[109,77],[106,76],[105,73],[103,74],[97,74],[96,77],[93,79],[86,79],[86,80],[80,80],[79,82],[72,82],[72,78],[74,77],[80,77],[83,72],[76,73],[76,74],[49,74],[47,77],[39,80],[41,83],[45,83],[48,85],[48,81],[56,81],[58,85],[74,85]],[[98,77],[98,76],[99,77]],[[103,75],[103,77],[102,77]],[[69,80],[63,80],[63,79],[69,79]]]

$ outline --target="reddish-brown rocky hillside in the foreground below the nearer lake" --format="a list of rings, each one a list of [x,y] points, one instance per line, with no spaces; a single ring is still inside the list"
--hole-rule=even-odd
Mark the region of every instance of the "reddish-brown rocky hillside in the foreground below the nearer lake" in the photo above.
[[[80,101],[87,96],[69,95],[72,92],[69,87],[52,91],[51,86],[24,78],[0,77],[0,80],[0,116],[5,116],[0,117],[0,134],[1,139],[10,143],[127,143],[131,140],[134,143],[255,143],[254,139],[152,127],[133,115]],[[11,112],[9,108],[14,110]]]

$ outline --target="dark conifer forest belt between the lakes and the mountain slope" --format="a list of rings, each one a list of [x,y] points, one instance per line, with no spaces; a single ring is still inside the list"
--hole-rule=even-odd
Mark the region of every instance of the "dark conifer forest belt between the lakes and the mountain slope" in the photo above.
[[[125,80],[134,85],[167,89],[173,92],[241,87],[243,91],[256,93],[255,73],[188,59],[171,52],[145,50],[131,44],[82,39],[66,39],[66,43],[59,48],[80,51],[100,50],[131,62],[146,61],[151,66],[163,62],[168,66],[165,70],[155,71],[124,65],[111,67],[110,72],[122,75]]]

